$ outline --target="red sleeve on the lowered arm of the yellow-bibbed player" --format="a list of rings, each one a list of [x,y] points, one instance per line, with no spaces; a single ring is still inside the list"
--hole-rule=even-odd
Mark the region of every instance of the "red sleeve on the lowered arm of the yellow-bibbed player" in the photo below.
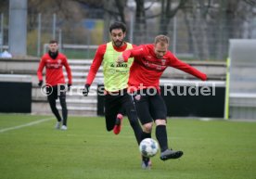
[[[96,78],[96,72],[102,63],[104,54],[106,52],[106,48],[107,48],[107,45],[99,45],[98,46],[98,48],[96,50],[96,56],[95,56],[93,63],[90,67],[90,70],[89,70],[89,73],[88,73],[85,83],[91,85],[94,82],[94,80]]]

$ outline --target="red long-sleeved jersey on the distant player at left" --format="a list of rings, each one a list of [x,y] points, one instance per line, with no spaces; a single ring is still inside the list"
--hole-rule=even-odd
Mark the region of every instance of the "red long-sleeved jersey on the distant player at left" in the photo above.
[[[39,67],[37,70],[37,77],[38,80],[43,80],[43,70],[46,68],[45,71],[45,83],[48,83],[52,86],[57,85],[58,83],[65,83],[65,77],[63,74],[62,67],[66,68],[68,73],[68,83],[72,83],[72,75],[70,70],[70,65],[68,63],[68,59],[61,53],[58,53],[58,57],[53,59],[46,53],[39,63]]]

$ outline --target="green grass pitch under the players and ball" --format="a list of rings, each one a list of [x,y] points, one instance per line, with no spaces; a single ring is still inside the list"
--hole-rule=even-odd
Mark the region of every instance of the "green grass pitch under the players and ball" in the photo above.
[[[1,179],[256,178],[256,122],[169,119],[169,146],[185,154],[161,161],[158,153],[150,171],[141,169],[126,118],[119,135],[101,117],[70,117],[68,131],[55,123],[52,116],[0,114]]]

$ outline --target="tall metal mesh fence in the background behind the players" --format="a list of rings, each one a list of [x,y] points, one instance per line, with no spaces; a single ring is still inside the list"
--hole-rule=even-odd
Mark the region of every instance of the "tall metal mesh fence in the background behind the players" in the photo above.
[[[136,45],[152,43],[154,37],[160,33],[160,26],[165,25],[159,25],[157,18],[149,19],[143,25],[136,24],[133,17],[130,16],[127,20],[127,40]],[[244,22],[237,20],[237,23],[234,20],[232,24],[222,26],[213,22],[195,22],[180,13],[169,20],[170,23],[165,29],[171,38],[170,50],[183,59],[224,61],[228,53],[228,37],[256,38],[256,19]],[[6,16],[2,14],[0,21],[0,48],[3,51],[8,45]],[[93,58],[96,48],[91,45],[106,43],[103,31],[104,26],[109,26],[103,19],[65,20],[58,18],[56,14],[30,15],[27,25],[28,55],[42,56],[45,44],[50,39],[58,39],[61,50],[70,58]]]

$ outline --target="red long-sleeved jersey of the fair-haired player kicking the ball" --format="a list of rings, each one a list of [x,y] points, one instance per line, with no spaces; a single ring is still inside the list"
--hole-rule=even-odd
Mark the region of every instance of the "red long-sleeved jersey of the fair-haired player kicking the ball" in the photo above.
[[[176,58],[171,51],[167,51],[163,58],[157,58],[154,45],[139,45],[124,51],[122,57],[125,62],[128,58],[134,58],[128,82],[131,92],[143,88],[160,90],[160,76],[167,67],[183,70],[202,81],[207,79],[206,74]]]

